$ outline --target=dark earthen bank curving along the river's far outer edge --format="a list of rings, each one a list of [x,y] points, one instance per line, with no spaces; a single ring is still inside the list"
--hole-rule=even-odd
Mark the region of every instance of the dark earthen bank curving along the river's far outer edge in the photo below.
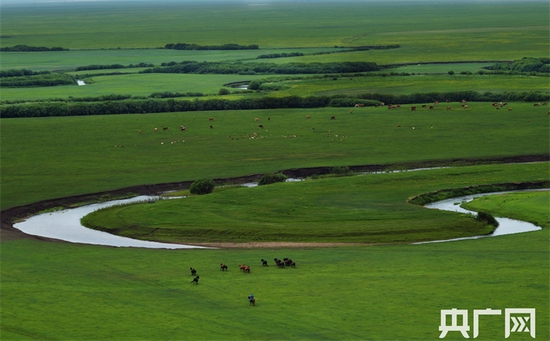
[[[508,158],[492,158],[492,159],[453,159],[453,160],[444,160],[444,161],[424,161],[424,162],[409,162],[409,163],[395,163],[395,164],[373,164],[373,165],[363,165],[363,166],[350,166],[350,170],[354,172],[380,172],[386,171],[388,169],[414,169],[414,168],[433,168],[433,167],[452,167],[454,166],[465,166],[465,165],[475,165],[475,164],[495,164],[495,163],[526,163],[526,162],[547,162],[550,161],[550,155],[527,155],[527,156],[517,156],[517,157],[508,157]],[[281,173],[287,175],[288,177],[294,178],[305,178],[314,174],[328,174],[330,173],[331,167],[315,167],[315,168],[298,168],[298,169],[288,169],[281,171]],[[217,184],[244,184],[248,182],[258,181],[262,174],[254,174],[248,176],[241,176],[235,178],[219,178],[215,179]],[[70,208],[82,203],[96,203],[100,202],[100,198],[110,197],[112,200],[115,200],[117,197],[128,197],[137,195],[159,195],[161,193],[170,191],[170,190],[182,190],[188,189],[193,181],[184,181],[176,183],[163,183],[163,184],[154,184],[154,185],[139,185],[121,188],[113,191],[83,194],[77,196],[70,196],[65,198],[50,199],[39,201],[24,206],[17,206],[9,208],[0,212],[0,241],[11,240],[11,239],[21,239],[21,238],[33,238],[38,240],[48,240],[48,241],[59,241],[57,239],[39,237],[26,234],[14,227],[14,224],[17,220],[28,218],[32,215],[35,215],[39,212],[50,210],[53,208]],[[520,186],[521,184],[517,184]],[[103,200],[105,201],[105,200]],[[272,243],[270,243],[272,244]],[[303,246],[304,243],[285,243],[287,246],[297,244],[296,247],[306,247]],[[350,245],[348,243],[307,243],[308,246],[313,246],[313,244],[322,244],[322,246],[329,245]],[[196,244],[199,245],[199,244]],[[200,244],[207,247],[236,247],[232,243],[204,243]],[[364,245],[364,244],[361,244]],[[287,247],[285,246],[285,247]],[[252,247],[252,246],[250,246]],[[257,246],[261,247],[261,246]]]

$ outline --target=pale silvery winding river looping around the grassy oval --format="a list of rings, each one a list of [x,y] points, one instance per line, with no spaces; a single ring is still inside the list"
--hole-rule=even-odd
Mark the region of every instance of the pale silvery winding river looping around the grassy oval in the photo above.
[[[249,187],[252,187],[255,184],[246,184],[246,185]],[[499,192],[499,193],[506,193],[506,192]],[[469,196],[464,196],[459,198],[452,198],[452,199],[431,203],[429,205],[426,205],[425,207],[431,208],[431,209],[440,209],[440,210],[474,214],[475,212],[467,211],[461,208],[460,205],[457,205],[456,203],[470,201],[479,196],[499,194],[499,193],[482,193],[482,194],[469,195]],[[53,239],[63,240],[63,241],[72,242],[72,243],[81,243],[81,244],[106,245],[106,246],[114,246],[114,247],[155,248],[155,249],[206,248],[206,247],[194,246],[194,245],[169,244],[169,243],[159,243],[159,242],[131,239],[131,238],[113,235],[107,232],[92,230],[80,224],[80,219],[82,217],[100,208],[109,207],[113,205],[127,204],[132,202],[147,201],[147,200],[157,199],[157,198],[158,197],[155,197],[155,196],[143,195],[143,196],[138,196],[131,199],[114,200],[114,201],[108,201],[103,203],[86,205],[78,208],[71,208],[71,209],[66,209],[61,211],[50,212],[50,213],[43,213],[43,214],[30,217],[23,222],[16,223],[14,224],[14,227],[30,235],[53,238]],[[430,242],[420,242],[415,244],[493,237],[493,236],[501,236],[506,234],[513,234],[513,233],[537,231],[541,229],[539,226],[536,226],[534,224],[524,222],[524,221],[518,221],[518,220],[513,220],[508,218],[496,218],[496,219],[499,222],[499,227],[495,229],[495,231],[491,235],[438,240],[438,241],[430,241]]]

